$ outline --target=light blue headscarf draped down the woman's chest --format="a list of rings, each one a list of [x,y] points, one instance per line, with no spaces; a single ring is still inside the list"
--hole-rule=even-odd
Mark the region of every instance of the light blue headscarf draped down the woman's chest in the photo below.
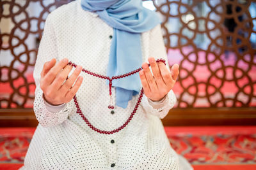
[[[142,64],[141,32],[160,23],[154,11],[142,6],[141,0],[81,0],[83,10],[96,12],[113,27],[107,75],[117,76],[138,69]],[[113,80],[116,105],[126,108],[132,96],[141,89],[140,76],[133,74]]]

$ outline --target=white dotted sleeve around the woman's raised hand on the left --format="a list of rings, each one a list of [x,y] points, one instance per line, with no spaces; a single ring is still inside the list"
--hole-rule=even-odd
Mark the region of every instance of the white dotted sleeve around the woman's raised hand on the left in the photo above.
[[[54,27],[52,25],[52,16],[49,14],[45,22],[44,35],[40,41],[33,73],[36,84],[34,112],[36,119],[43,127],[52,127],[67,120],[68,114],[74,106],[74,104],[70,102],[65,104],[65,107],[61,108],[61,110],[51,110],[49,107],[49,110],[47,110],[47,106],[45,105],[43,99],[43,92],[42,89],[40,89],[40,73],[43,69],[44,63],[52,58],[56,58],[58,61],[56,36],[54,34]]]

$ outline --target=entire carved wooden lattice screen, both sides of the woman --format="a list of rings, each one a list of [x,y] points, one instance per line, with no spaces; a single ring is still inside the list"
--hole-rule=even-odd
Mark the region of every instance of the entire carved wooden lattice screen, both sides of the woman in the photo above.
[[[0,107],[31,108],[45,18],[69,1],[0,1]],[[256,4],[156,0],[169,63],[180,64],[178,108],[256,106]],[[154,10],[154,8],[152,9]]]

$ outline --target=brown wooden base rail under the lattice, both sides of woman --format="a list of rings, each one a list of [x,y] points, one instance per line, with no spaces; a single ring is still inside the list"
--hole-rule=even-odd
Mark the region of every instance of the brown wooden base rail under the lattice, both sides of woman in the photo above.
[[[164,126],[256,125],[255,108],[173,109],[162,120]],[[32,109],[0,110],[0,127],[36,127]]]

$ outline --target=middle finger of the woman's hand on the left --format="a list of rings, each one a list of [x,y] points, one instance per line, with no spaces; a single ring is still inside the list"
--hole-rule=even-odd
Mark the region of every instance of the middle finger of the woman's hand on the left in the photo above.
[[[70,73],[71,70],[72,70],[72,66],[70,65],[65,66],[63,70],[60,71],[60,74],[58,74],[56,78],[52,81],[51,86],[55,90],[59,90],[63,85],[63,82],[67,79],[68,74]]]

